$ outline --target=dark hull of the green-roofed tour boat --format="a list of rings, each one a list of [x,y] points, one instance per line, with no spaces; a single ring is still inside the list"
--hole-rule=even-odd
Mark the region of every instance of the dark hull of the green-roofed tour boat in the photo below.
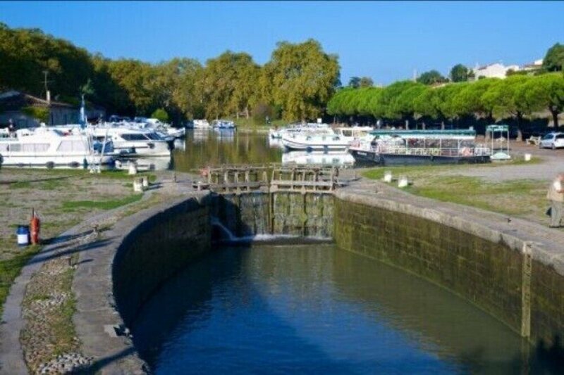
[[[442,165],[490,163],[489,155],[443,156],[376,153],[374,151],[349,150],[357,165]]]

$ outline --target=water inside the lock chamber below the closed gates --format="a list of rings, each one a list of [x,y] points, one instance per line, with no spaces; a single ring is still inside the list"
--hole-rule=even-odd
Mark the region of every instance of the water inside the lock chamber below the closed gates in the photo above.
[[[517,374],[517,334],[456,295],[333,245],[216,250],[145,305],[156,374]],[[532,367],[532,368],[531,368]]]

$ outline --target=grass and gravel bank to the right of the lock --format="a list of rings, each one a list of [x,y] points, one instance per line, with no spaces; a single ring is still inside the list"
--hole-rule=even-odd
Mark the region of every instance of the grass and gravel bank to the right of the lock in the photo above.
[[[525,153],[530,153],[532,160],[525,161]],[[407,177],[410,186],[405,191],[415,196],[481,208],[507,215],[509,220],[518,217],[548,227],[546,189],[556,174],[564,171],[564,149],[542,150],[514,142],[511,154],[511,161],[488,165],[384,167],[360,173],[381,180],[389,171],[396,184],[399,177]]]

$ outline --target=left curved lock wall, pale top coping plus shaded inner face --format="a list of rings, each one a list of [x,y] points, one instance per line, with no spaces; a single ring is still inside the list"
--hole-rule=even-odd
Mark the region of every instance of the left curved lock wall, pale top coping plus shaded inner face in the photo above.
[[[144,374],[125,326],[173,274],[210,248],[207,193],[125,217],[104,231],[95,250],[80,253],[73,316],[81,349],[97,374]]]

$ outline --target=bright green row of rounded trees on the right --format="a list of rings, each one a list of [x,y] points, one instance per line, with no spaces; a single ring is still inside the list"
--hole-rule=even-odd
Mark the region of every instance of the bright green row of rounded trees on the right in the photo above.
[[[441,86],[400,81],[385,88],[348,87],[338,91],[327,105],[331,115],[369,116],[408,124],[421,117],[445,122],[474,115],[491,122],[512,117],[520,125],[524,116],[543,110],[551,113],[558,127],[558,114],[564,111],[564,75],[560,72]]]

